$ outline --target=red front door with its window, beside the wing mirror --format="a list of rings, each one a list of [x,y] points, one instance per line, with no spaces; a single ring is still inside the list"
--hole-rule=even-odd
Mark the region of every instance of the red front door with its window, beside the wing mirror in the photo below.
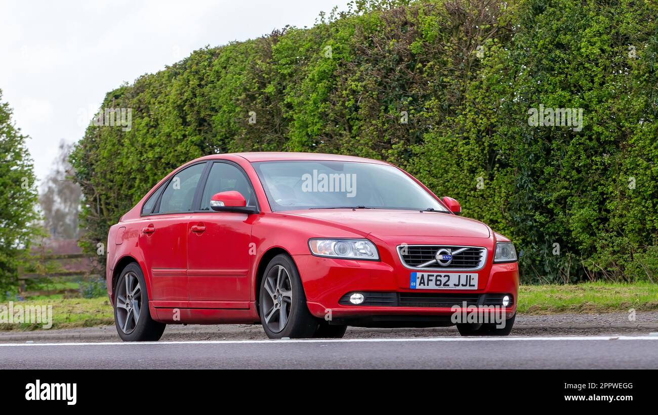
[[[213,162],[201,194],[199,211],[188,223],[188,291],[190,307],[246,309],[249,307],[250,246],[256,215],[216,212],[210,200],[218,192],[236,190],[247,206],[257,206],[253,187],[241,167]]]

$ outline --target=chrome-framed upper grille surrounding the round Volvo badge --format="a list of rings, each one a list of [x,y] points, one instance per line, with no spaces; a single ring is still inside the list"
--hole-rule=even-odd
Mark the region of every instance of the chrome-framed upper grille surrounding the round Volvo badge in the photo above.
[[[447,265],[436,261],[436,254],[450,252],[452,259]],[[478,270],[484,267],[487,250],[479,246],[451,245],[400,245],[397,253],[405,267],[419,270]]]

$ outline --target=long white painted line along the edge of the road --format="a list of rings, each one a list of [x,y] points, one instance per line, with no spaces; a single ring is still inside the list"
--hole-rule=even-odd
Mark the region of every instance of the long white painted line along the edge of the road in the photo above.
[[[1,339],[1,336],[0,336]],[[172,344],[286,344],[286,343],[380,343],[401,341],[592,341],[592,340],[658,340],[658,336],[545,336],[545,337],[434,337],[434,338],[376,338],[376,339],[288,339],[288,340],[190,340],[190,341],[102,341],[88,343],[0,343],[8,346],[114,346],[114,345],[172,345]]]

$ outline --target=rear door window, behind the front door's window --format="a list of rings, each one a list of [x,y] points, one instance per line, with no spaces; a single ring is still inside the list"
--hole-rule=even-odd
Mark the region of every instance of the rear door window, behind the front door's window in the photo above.
[[[204,168],[205,163],[195,164],[176,173],[164,189],[158,213],[191,211]]]

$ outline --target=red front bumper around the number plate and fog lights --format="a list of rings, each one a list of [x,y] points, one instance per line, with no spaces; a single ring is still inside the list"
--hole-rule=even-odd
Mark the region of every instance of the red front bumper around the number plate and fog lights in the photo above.
[[[313,255],[293,257],[299,269],[309,311],[334,324],[358,326],[450,326],[453,313],[464,306],[493,304],[502,294],[513,297],[505,307],[505,318],[517,311],[519,268],[517,263],[488,264],[476,271],[477,290],[413,290],[409,275],[413,270],[391,261],[354,261]],[[380,293],[384,301],[370,305],[349,305],[351,292]],[[388,298],[385,298],[388,297]],[[343,299],[343,301],[341,301]],[[466,301],[466,303],[464,303]],[[387,303],[388,302],[388,303]],[[468,309],[467,309],[468,310]]]

